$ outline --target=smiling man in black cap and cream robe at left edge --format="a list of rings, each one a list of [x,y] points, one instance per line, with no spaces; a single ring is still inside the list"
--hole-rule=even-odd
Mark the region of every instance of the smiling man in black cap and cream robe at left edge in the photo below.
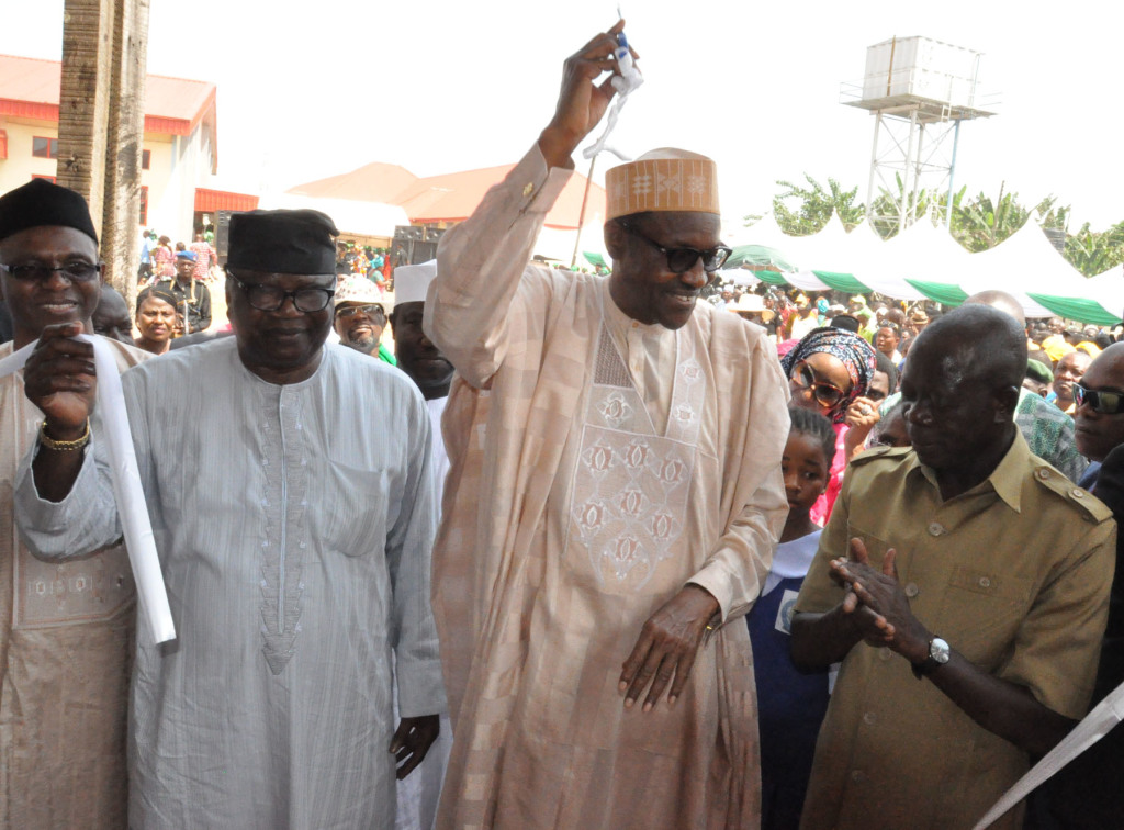
[[[103,288],[97,263],[80,195],[33,179],[0,198],[0,280],[15,326],[0,359],[47,325],[92,332]],[[106,344],[121,372],[152,357]],[[0,830],[124,827],[136,588],[119,540],[44,562],[19,539],[12,489],[42,422],[22,372],[0,377]]]

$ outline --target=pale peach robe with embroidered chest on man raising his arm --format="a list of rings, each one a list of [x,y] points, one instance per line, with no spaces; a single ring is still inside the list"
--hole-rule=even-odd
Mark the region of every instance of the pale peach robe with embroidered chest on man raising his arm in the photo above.
[[[434,551],[454,716],[437,824],[752,827],[741,616],[787,513],[787,385],[736,315],[698,304],[678,333],[643,326],[600,278],[525,268],[568,177],[534,147],[445,235],[426,303],[460,376]],[[674,709],[626,712],[622,662],[687,583],[728,624]]]

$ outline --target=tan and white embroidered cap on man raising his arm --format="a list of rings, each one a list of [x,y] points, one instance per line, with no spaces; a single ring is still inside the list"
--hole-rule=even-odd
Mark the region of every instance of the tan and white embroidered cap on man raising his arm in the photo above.
[[[687,150],[660,147],[605,174],[606,219],[650,210],[718,214],[718,168]]]

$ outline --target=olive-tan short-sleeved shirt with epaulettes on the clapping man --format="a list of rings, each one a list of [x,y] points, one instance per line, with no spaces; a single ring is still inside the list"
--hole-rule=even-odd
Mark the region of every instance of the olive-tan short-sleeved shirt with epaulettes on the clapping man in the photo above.
[[[1116,524],[1100,502],[1032,455],[1016,432],[995,471],[942,502],[909,449],[874,450],[843,490],[796,604],[843,598],[828,562],[865,542],[872,566],[897,551],[917,619],[977,667],[1081,718],[1089,703],[1115,566]],[[908,661],[859,643],[816,746],[801,828],[970,828],[1027,768]],[[1010,811],[996,827],[1021,827]]]

